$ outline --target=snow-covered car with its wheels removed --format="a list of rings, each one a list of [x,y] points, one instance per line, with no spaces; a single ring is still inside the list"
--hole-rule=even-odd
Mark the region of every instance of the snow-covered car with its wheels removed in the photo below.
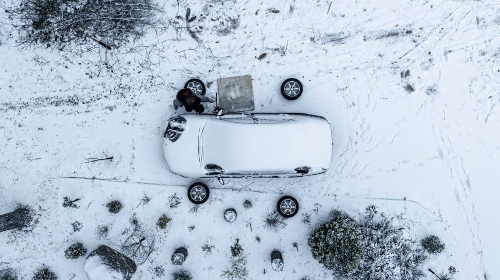
[[[331,130],[306,114],[185,114],[163,135],[168,169],[187,178],[269,178],[328,170]]]

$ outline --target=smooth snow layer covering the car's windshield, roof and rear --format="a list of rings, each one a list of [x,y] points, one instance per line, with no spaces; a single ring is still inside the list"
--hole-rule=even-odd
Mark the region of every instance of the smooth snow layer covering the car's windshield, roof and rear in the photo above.
[[[200,140],[202,166],[216,164],[225,174],[295,172],[300,166],[328,169],[331,160],[330,126],[310,116],[264,124],[214,118],[207,121]]]

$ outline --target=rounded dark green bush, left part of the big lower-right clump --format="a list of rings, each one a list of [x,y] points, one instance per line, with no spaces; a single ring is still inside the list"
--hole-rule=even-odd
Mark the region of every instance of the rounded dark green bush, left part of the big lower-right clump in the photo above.
[[[334,211],[333,218],[315,229],[308,245],[312,257],[327,269],[348,274],[352,272],[363,254],[359,225],[345,213]]]

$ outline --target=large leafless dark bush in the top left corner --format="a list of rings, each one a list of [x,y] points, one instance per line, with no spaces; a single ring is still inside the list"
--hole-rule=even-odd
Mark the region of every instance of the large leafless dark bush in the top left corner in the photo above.
[[[151,0],[21,0],[11,9],[23,47],[117,48],[154,28]]]

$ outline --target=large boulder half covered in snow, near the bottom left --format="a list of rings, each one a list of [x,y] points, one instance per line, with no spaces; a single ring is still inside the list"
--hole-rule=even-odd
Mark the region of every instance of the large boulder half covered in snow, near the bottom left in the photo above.
[[[92,251],[83,264],[89,280],[130,280],[136,269],[132,260],[104,245]]]

